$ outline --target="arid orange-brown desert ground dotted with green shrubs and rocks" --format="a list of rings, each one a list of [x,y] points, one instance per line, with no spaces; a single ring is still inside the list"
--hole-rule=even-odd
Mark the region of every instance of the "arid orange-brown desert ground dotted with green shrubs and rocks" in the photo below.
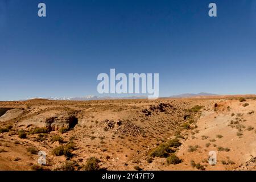
[[[255,98],[0,102],[0,170],[255,170]]]

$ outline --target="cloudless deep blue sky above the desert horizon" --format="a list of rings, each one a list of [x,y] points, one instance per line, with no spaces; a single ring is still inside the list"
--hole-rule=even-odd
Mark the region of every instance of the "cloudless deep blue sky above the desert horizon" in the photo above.
[[[256,1],[0,0],[0,66],[0,100],[98,95],[110,68],[162,97],[256,93]]]

